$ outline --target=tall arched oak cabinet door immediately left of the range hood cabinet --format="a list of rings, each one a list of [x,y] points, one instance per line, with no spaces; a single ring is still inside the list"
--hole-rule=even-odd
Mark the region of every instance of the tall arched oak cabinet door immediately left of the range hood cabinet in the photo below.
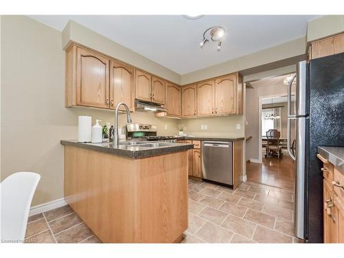
[[[125,103],[133,111],[133,67],[111,60],[110,62],[110,108]],[[120,110],[125,110],[120,107]]]

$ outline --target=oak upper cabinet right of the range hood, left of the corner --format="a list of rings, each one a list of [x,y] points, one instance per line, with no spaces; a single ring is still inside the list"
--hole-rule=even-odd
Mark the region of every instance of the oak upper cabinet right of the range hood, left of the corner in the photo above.
[[[167,116],[180,117],[182,115],[180,105],[181,87],[168,83],[166,92]]]

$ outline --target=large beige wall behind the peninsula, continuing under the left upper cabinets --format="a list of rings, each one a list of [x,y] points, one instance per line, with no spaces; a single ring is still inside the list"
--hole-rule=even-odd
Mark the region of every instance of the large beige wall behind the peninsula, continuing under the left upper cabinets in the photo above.
[[[60,140],[77,138],[78,116],[113,122],[114,111],[65,108],[61,32],[24,16],[1,18],[1,180],[16,171],[40,173],[32,205],[42,204],[63,197]],[[158,125],[160,134],[178,131],[178,120],[153,114],[137,112],[133,122]]]

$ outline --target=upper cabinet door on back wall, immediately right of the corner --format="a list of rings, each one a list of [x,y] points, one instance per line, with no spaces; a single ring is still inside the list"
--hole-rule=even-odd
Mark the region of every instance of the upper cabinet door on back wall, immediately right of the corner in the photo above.
[[[182,117],[195,118],[197,116],[197,86],[182,88]]]

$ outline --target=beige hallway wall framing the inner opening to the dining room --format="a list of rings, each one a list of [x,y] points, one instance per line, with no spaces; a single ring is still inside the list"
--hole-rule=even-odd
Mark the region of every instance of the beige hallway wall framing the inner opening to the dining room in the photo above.
[[[293,89],[294,92],[294,89]],[[246,141],[246,160],[259,159],[259,97],[287,94],[287,87],[283,84],[246,88],[246,121],[245,137],[252,138]],[[285,131],[285,130],[284,130]]]

